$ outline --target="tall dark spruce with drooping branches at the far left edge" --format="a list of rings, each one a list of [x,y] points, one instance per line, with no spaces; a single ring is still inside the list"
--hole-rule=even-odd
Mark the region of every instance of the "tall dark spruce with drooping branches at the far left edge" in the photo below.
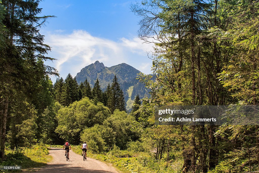
[[[54,60],[45,56],[51,47],[44,44],[44,36],[40,34],[40,27],[52,16],[40,16],[39,2],[5,0],[0,3],[0,158],[4,157],[6,122],[13,93],[24,94],[24,100],[32,99],[45,75],[57,75],[54,68],[43,63]]]

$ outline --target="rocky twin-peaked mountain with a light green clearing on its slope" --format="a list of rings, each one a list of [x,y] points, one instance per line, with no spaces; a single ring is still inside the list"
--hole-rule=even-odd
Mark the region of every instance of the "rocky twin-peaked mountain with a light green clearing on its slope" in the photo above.
[[[140,99],[142,99],[145,95],[148,96],[150,91],[136,79],[138,73],[140,73],[139,70],[125,63],[105,67],[103,63],[96,61],[94,64],[82,68],[76,74],[76,80],[80,84],[87,79],[91,87],[93,87],[98,78],[99,85],[104,91],[109,83],[110,85],[112,84],[112,79],[116,74],[120,87],[124,92],[126,109],[130,110],[136,95],[139,94]]]

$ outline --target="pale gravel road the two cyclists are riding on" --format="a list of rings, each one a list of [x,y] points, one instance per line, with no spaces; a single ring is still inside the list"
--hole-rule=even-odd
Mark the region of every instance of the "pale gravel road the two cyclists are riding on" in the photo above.
[[[118,173],[115,168],[98,160],[88,158],[83,161],[83,156],[69,150],[69,161],[66,160],[65,151],[62,148],[50,148],[53,161],[40,168],[37,173],[50,172],[89,172],[89,173]]]

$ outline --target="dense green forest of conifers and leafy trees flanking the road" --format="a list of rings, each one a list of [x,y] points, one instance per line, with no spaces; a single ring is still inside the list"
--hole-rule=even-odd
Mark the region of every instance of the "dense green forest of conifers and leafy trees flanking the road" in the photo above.
[[[154,107],[258,105],[259,1],[131,4],[139,38],[155,44],[153,73],[138,76],[150,97],[136,96],[131,113],[116,75],[103,92],[98,79],[78,85],[44,65],[55,57],[39,28],[54,16],[39,17],[40,1],[0,2],[2,161],[6,148],[69,140],[132,172],[258,172],[259,124],[158,126]]]

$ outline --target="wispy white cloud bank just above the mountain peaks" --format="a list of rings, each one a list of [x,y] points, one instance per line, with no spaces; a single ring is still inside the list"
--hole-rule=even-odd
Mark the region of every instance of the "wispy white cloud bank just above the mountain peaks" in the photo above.
[[[144,73],[148,73],[147,67],[151,64],[146,52],[152,50],[153,45],[142,44],[138,37],[112,41],[94,37],[83,30],[75,30],[71,34],[49,33],[45,37],[45,43],[52,47],[50,56],[57,59],[54,67],[62,77],[68,73],[75,76],[83,67],[96,60],[108,67],[128,63],[141,68],[138,70],[143,70]]]

